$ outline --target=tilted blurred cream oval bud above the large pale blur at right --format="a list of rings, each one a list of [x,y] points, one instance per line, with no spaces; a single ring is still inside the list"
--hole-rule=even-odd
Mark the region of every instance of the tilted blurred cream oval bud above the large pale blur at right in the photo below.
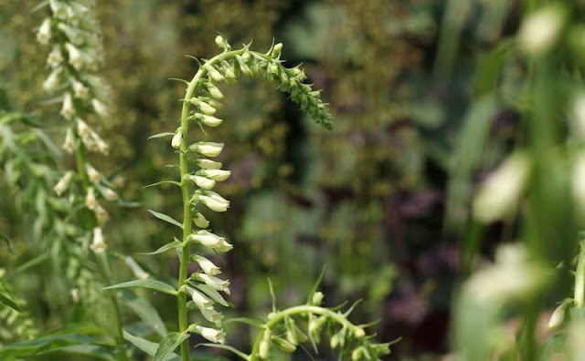
[[[473,215],[481,222],[494,222],[514,209],[526,183],[530,162],[526,154],[508,157],[481,185],[473,200]]]

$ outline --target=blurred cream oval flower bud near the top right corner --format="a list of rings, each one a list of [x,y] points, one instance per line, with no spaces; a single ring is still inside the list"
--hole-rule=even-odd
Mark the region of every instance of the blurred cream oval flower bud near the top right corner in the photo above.
[[[565,22],[565,11],[547,5],[527,15],[518,31],[519,46],[529,55],[546,53],[557,42]]]

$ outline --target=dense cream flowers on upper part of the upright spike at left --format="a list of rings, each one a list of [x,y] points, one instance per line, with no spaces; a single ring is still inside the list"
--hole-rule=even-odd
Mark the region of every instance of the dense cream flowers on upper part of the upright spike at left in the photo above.
[[[90,127],[81,115],[95,114],[106,118],[109,110],[103,102],[108,87],[94,73],[103,62],[100,26],[93,15],[91,0],[49,0],[50,15],[37,30],[37,40],[50,46],[47,64],[50,68],[43,87],[48,92],[63,89],[61,116],[68,121],[63,150],[73,153],[90,150],[107,155],[108,144]],[[108,219],[108,212],[97,201],[96,191],[108,201],[118,199],[111,184],[103,180],[101,173],[90,164],[83,164],[90,187],[85,194],[85,205],[94,211],[101,225]],[[55,192],[63,194],[73,180],[82,180],[67,172]]]

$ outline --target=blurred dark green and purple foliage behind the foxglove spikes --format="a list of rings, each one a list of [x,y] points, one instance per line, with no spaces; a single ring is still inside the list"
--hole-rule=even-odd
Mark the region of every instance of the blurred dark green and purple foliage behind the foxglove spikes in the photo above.
[[[51,128],[57,106],[42,91],[46,54],[34,30],[43,15],[32,12],[35,5],[0,2],[0,108],[30,113],[60,144]],[[315,88],[324,90],[335,129],[314,127],[271,85],[242,79],[221,88],[228,126],[212,129],[209,138],[229,147],[221,161],[232,177],[222,194],[231,208],[211,221],[235,244],[222,265],[232,280],[233,314],[270,310],[268,277],[281,304],[302,302],[326,264],[326,303],[363,298],[356,323],[379,319],[379,339],[403,337],[394,359],[440,359],[448,352],[470,196],[477,180],[524,139],[520,94],[527,68],[506,39],[519,25],[518,2],[123,0],[97,8],[106,50],[101,74],[114,110],[97,125],[111,155],[94,164],[121,175],[123,198],[141,203],[108,210],[112,250],[154,273],[176,274],[174,254],[163,263],[137,254],[175,236],[146,208],[180,218],[176,191],[143,188],[175,176],[165,168],[175,161],[168,144],[146,140],[176,129],[184,86],[167,78],[192,77],[197,64],[184,55],[212,57],[217,33],[231,44],[253,39],[258,49],[276,39],[287,65],[303,63]],[[72,164],[62,155],[54,161],[60,169]],[[35,243],[44,241],[17,221],[34,205],[19,203],[5,170],[0,174],[0,233],[17,253],[3,247],[0,261],[14,269],[34,260]],[[516,232],[506,223],[484,231],[486,256]],[[122,263],[116,269],[118,280],[130,277]],[[38,286],[59,277],[41,260],[6,285],[27,300],[38,330],[92,316],[69,309],[69,293],[55,297],[54,289]],[[153,300],[163,319],[174,320],[174,300]],[[137,320],[124,315],[129,324]],[[0,317],[0,344],[17,338],[5,331],[7,321]],[[21,336],[34,335],[26,325]],[[249,337],[245,328],[229,332],[230,344],[243,349]]]

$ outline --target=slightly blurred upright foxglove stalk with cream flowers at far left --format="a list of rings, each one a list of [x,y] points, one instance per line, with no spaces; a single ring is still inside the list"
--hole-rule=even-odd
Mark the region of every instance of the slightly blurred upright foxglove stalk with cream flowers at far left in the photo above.
[[[47,64],[50,73],[43,83],[49,93],[61,98],[60,115],[66,121],[63,150],[75,155],[76,170],[67,170],[55,184],[54,191],[67,200],[72,216],[78,220],[82,233],[78,239],[91,240],[90,250],[95,254],[102,282],[112,283],[112,272],[107,245],[101,227],[108,221],[108,211],[101,200],[117,201],[118,193],[111,181],[101,175],[87,160],[87,152],[108,155],[108,144],[91,128],[88,117],[108,117],[105,98],[108,87],[96,71],[103,62],[100,26],[93,15],[91,0],[48,0],[50,15],[37,31],[37,40],[51,46]],[[87,209],[91,216],[83,214]],[[83,297],[83,294],[81,294]],[[109,294],[115,319],[115,338],[120,350],[119,359],[125,359],[125,341],[119,307]]]

